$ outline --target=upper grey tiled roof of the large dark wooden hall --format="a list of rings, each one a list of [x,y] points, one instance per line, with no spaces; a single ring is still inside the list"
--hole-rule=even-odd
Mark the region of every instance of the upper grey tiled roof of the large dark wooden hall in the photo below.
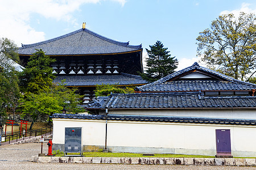
[[[18,53],[31,55],[36,52],[35,49],[42,49],[46,55],[55,56],[125,53],[141,50],[142,46],[108,39],[89,29],[79,29],[55,39],[22,45],[18,49]]]

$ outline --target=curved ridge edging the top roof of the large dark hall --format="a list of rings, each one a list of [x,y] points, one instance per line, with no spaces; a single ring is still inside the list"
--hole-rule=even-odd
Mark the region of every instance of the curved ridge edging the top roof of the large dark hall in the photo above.
[[[42,44],[46,44],[48,42],[52,42],[52,41],[56,41],[56,40],[60,40],[60,39],[63,39],[64,37],[68,37],[68,36],[71,36],[75,33],[78,33],[78,32],[82,32],[82,31],[85,31],[85,32],[88,32],[90,33],[91,35],[93,36],[96,36],[102,40],[105,40],[105,41],[109,41],[109,42],[112,42],[113,44],[117,44],[117,45],[122,45],[122,46],[127,46],[127,47],[130,47],[130,48],[142,48],[142,44],[141,45],[129,45],[129,41],[128,42],[121,42],[121,41],[116,41],[116,40],[112,40],[112,39],[109,39],[108,37],[105,37],[105,36],[102,36],[102,35],[99,35],[98,33],[95,33],[93,31],[90,31],[89,29],[78,29],[77,31],[73,31],[73,32],[70,32],[70,33],[67,33],[63,36],[59,36],[59,37],[55,37],[53,39],[49,39],[49,40],[46,40],[46,41],[41,41],[41,42],[36,42],[34,44],[22,44],[22,47],[20,47],[19,49],[23,49],[23,48],[30,48],[32,46],[37,46],[37,45],[42,45]]]

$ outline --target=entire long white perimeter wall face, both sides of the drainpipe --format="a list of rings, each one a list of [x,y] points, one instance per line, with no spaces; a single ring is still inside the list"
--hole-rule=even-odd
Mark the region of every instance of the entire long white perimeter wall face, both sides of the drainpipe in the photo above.
[[[53,118],[53,143],[64,145],[67,127],[82,127],[82,145],[105,146],[105,121]],[[113,151],[171,148],[175,154],[215,155],[216,129],[230,129],[233,156],[256,155],[256,126],[241,125],[108,121],[107,146]]]

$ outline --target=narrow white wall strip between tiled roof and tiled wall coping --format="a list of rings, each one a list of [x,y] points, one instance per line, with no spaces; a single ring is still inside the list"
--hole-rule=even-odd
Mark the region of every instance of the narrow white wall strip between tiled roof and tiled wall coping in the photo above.
[[[109,109],[109,114],[256,119],[255,109]]]

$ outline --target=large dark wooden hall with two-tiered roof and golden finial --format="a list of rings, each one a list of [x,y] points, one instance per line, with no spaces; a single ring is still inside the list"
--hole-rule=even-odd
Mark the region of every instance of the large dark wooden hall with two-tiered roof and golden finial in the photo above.
[[[98,35],[85,28],[18,49],[26,65],[32,53],[42,49],[56,59],[51,63],[58,83],[66,80],[67,87],[78,87],[85,95],[84,103],[94,97],[97,85],[139,86],[146,84],[138,72],[143,72],[142,45],[129,45]]]

